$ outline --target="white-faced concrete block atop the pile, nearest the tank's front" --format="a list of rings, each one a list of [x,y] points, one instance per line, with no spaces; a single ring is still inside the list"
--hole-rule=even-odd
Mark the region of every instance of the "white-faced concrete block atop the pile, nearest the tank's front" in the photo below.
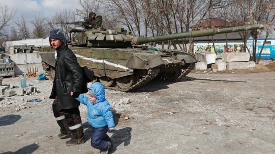
[[[216,62],[217,55],[209,51],[196,52],[196,59],[206,64],[213,64]]]

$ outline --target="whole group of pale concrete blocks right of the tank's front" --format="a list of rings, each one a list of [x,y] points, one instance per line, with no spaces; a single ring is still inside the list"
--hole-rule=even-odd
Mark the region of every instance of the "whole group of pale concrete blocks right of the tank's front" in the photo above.
[[[213,72],[255,67],[255,62],[249,61],[250,54],[248,52],[226,52],[221,53],[221,59],[216,58],[216,54],[213,52],[196,52],[196,59],[198,60],[196,70],[207,70],[208,65],[211,65]]]

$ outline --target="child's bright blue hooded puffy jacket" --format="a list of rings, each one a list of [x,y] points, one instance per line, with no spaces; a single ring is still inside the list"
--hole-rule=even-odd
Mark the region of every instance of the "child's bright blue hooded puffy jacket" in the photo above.
[[[97,101],[91,103],[89,97],[80,94],[77,98],[82,104],[87,105],[88,108],[88,122],[94,128],[102,128],[108,125],[108,128],[115,127],[113,114],[109,102],[105,98],[105,90],[100,82],[93,83],[89,90],[93,90]]]

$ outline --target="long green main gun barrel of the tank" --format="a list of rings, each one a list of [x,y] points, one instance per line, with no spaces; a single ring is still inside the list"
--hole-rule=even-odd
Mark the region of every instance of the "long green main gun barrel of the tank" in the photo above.
[[[228,28],[220,28],[220,29],[198,30],[198,31],[191,31],[191,32],[162,35],[162,36],[136,37],[136,38],[133,38],[132,44],[143,44],[143,43],[149,43],[149,42],[188,38],[188,37],[211,36],[215,34],[238,32],[238,31],[253,30],[253,29],[262,29],[262,28],[263,28],[263,24],[252,24],[252,25],[236,26],[236,27],[228,27]]]

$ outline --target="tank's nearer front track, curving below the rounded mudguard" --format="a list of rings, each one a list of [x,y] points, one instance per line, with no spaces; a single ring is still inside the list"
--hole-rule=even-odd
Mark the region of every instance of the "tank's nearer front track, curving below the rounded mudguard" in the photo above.
[[[160,70],[159,67],[155,67],[155,68],[149,69],[148,70],[148,74],[145,77],[143,77],[142,79],[140,79],[133,86],[131,86],[129,89],[120,89],[117,86],[115,86],[115,87],[105,87],[105,89],[117,90],[117,91],[123,91],[123,92],[133,91],[133,90],[135,90],[135,89],[137,89],[137,88],[145,85],[149,81],[153,80],[158,75],[159,70]]]

